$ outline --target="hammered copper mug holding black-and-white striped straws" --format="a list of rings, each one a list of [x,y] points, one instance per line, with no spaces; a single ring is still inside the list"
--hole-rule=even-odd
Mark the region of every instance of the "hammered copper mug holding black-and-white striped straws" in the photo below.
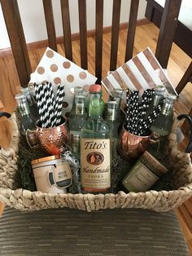
[[[51,128],[42,128],[41,122],[37,121],[36,130],[27,130],[26,139],[31,148],[37,146],[37,143],[31,143],[30,138],[37,137],[37,140],[43,148],[51,155],[59,155],[61,151],[68,148],[69,133],[67,122],[62,118],[62,123],[59,126]]]

